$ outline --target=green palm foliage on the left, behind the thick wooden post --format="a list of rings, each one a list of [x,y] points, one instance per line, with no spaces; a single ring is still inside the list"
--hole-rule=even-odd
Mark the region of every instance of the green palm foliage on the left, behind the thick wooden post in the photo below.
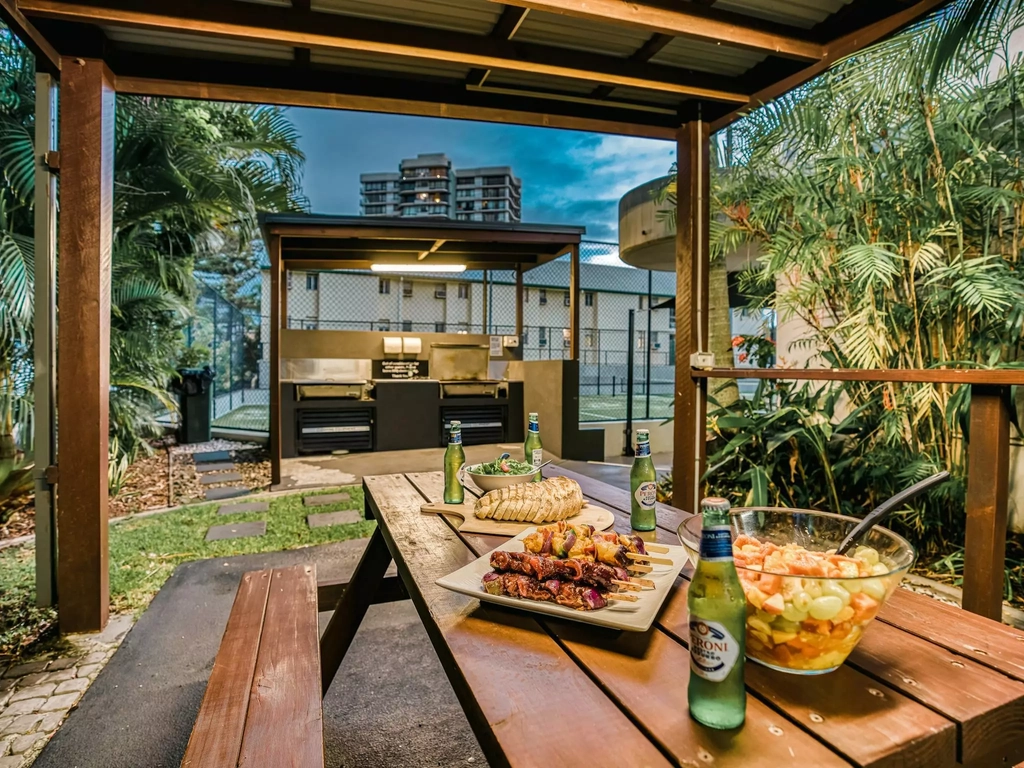
[[[31,444],[35,69],[0,28],[0,437]],[[197,264],[252,271],[259,211],[305,207],[298,134],[276,108],[122,96],[115,127],[112,487],[175,408],[167,382]],[[123,474],[123,473],[121,473]]]

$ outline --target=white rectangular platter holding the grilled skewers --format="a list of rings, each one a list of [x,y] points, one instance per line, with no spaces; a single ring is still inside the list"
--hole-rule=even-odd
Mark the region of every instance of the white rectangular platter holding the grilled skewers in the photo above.
[[[524,550],[522,545],[523,538],[535,530],[537,530],[536,527],[526,528],[516,536],[515,539],[510,539],[498,549],[509,552],[522,552]],[[574,610],[573,608],[553,602],[523,600],[518,597],[492,595],[485,592],[482,579],[484,573],[492,570],[489,552],[483,555],[483,557],[477,558],[469,565],[459,568],[454,573],[449,573],[446,577],[438,579],[437,585],[453,592],[475,597],[483,602],[498,603],[510,608],[545,613],[550,616],[567,618],[571,622],[583,622],[584,624],[593,624],[598,627],[608,627],[614,630],[646,632],[654,623],[654,617],[662,608],[665,598],[669,596],[669,592],[673,589],[679,571],[686,564],[686,550],[678,546],[668,546],[667,548],[669,550],[668,554],[659,552],[655,557],[672,560],[672,565],[652,565],[649,573],[642,574],[644,579],[649,579],[654,583],[654,589],[627,592],[625,594],[636,595],[639,599],[636,602],[609,601],[608,605],[597,610]]]

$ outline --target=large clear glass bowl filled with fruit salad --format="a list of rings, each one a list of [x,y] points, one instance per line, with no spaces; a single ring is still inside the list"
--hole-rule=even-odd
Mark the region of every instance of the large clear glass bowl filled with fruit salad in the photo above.
[[[860,520],[829,512],[767,507],[731,512],[732,553],[746,596],[746,655],[774,670],[820,675],[850,655],[918,556],[876,525],[836,554]],[[695,564],[700,516],[679,526]]]

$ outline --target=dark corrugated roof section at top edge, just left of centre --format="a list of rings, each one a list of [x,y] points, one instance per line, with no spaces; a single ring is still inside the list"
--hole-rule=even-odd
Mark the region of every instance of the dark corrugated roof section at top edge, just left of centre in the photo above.
[[[485,35],[502,14],[487,0],[312,0],[312,9]]]

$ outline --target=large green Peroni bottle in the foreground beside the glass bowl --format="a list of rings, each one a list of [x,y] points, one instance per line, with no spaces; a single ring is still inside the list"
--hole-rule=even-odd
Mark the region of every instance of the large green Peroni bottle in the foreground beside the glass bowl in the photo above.
[[[746,599],[732,561],[729,502],[705,499],[700,559],[690,582],[690,715],[711,728],[738,728],[746,716],[743,652]]]

